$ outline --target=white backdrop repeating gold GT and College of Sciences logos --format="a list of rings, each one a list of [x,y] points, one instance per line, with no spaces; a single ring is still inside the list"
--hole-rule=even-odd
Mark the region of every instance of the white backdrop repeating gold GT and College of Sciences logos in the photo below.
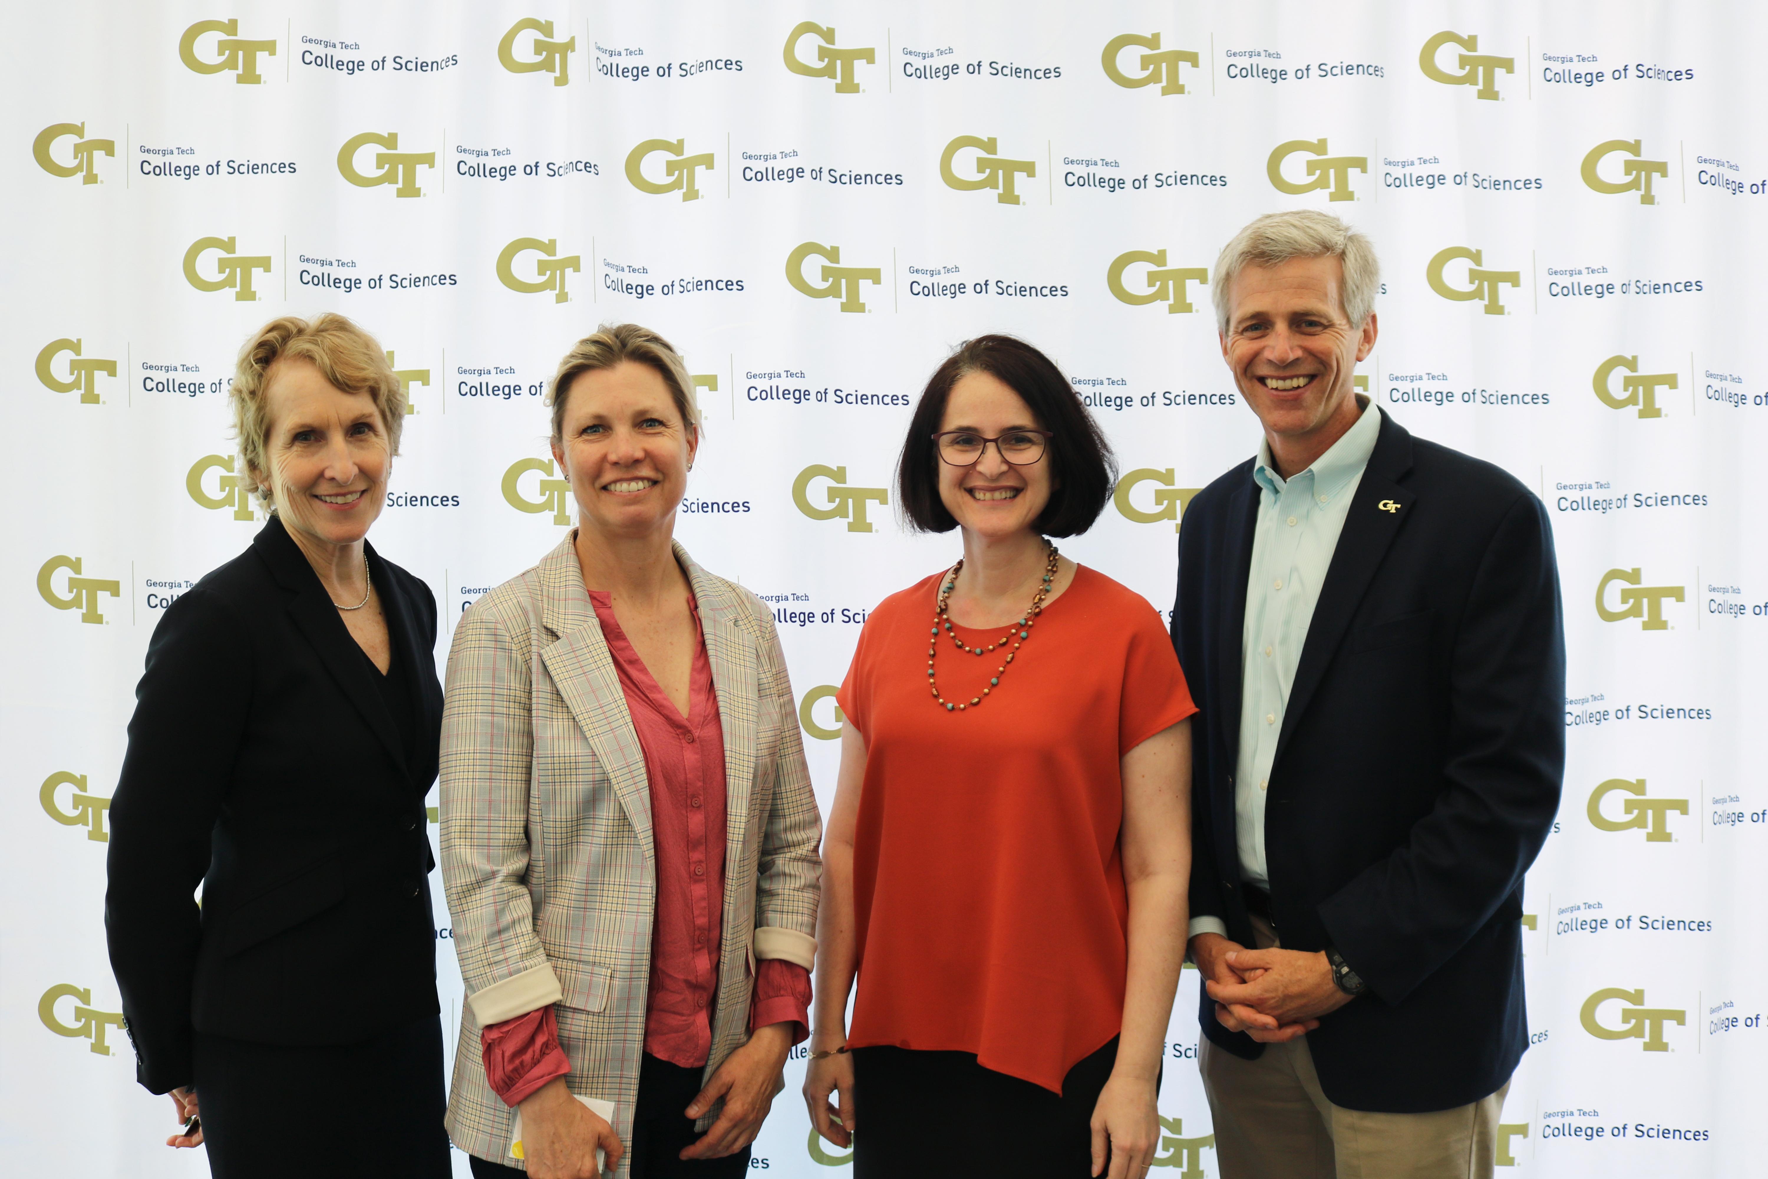
[[[1055,357],[1123,470],[1063,548],[1165,612],[1185,506],[1257,444],[1216,251],[1322,209],[1381,251],[1368,394],[1512,470],[1559,551],[1570,758],[1499,1163],[1763,1174],[1759,5],[87,0],[9,28],[9,1168],[203,1168],[161,1145],[118,1029],[106,808],[154,624],[262,523],[226,408],[260,323],[341,311],[405,382],[373,539],[435,590],[438,663],[571,521],[559,355],[601,322],[675,341],[707,421],[677,534],[774,605],[827,802],[866,612],[958,553],[891,491],[946,350],[1008,331]],[[1186,1177],[1218,1174],[1195,988],[1156,1161]],[[840,1174],[801,1069],[753,1167]],[[315,1140],[373,1133],[378,1084],[313,1094]]]

